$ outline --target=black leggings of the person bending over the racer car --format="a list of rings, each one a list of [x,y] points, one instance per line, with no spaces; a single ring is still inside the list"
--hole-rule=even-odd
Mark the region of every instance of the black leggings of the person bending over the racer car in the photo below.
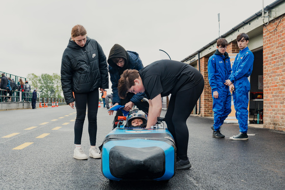
[[[203,89],[204,79],[190,89],[178,91],[169,100],[165,121],[167,129],[174,137],[177,156],[182,160],[187,160],[189,132],[186,120],[195,107]]]

